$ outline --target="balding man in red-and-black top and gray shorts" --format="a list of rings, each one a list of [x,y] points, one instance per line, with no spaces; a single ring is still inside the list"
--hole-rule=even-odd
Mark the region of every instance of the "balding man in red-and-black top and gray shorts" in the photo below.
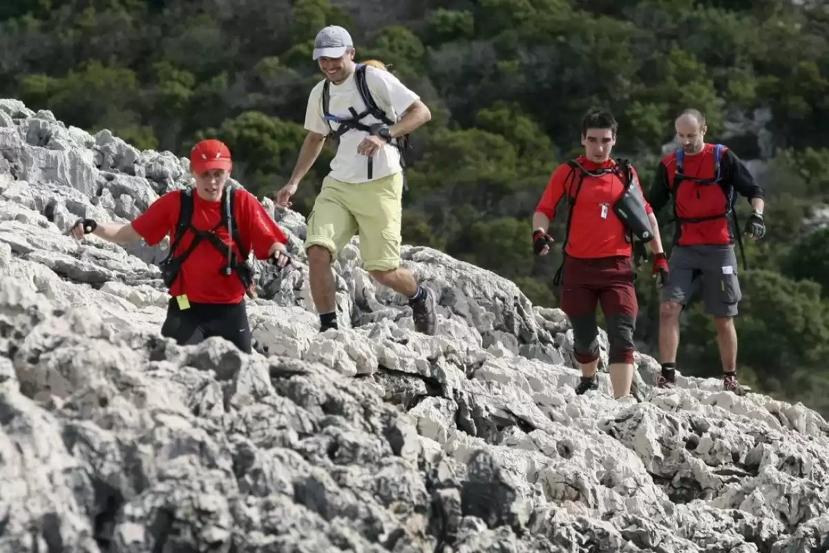
[[[674,123],[681,148],[662,158],[647,201],[654,213],[672,201],[676,232],[668,262],[668,279],[662,286],[659,317],[659,356],[662,371],[657,386],[675,386],[679,316],[701,277],[705,313],[715,320],[723,366],[723,388],[744,395],[737,380],[737,331],[734,316],[742,298],[737,276],[734,240],[736,194],[744,196],[753,211],[744,232],[750,238],[765,235],[763,189],[749,169],[729,148],[705,143],[705,115],[686,109]],[[720,162],[717,163],[717,159]]]

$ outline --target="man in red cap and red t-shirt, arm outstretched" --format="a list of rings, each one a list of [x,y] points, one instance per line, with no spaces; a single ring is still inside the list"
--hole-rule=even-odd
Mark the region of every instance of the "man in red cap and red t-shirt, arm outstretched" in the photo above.
[[[284,267],[288,238],[250,192],[227,186],[230,150],[218,140],[202,140],[190,153],[196,187],[167,192],[125,225],[80,219],[72,235],[94,234],[115,244],[143,239],[172,243],[159,263],[172,296],[161,333],[179,344],[219,336],[243,352],[252,351],[245,292],[253,275],[246,264],[252,250],[259,260]]]

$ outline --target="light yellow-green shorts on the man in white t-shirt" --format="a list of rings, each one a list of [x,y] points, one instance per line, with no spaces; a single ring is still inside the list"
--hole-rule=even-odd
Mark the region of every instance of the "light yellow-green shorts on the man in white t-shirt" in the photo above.
[[[305,248],[321,245],[336,259],[349,240],[359,235],[367,271],[397,269],[402,194],[402,172],[356,183],[325,177],[308,216]]]

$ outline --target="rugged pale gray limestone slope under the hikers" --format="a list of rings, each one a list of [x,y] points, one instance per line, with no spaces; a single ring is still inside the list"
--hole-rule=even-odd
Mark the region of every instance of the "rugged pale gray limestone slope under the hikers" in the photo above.
[[[405,263],[439,336],[352,245],[346,329],[318,334],[302,264],[264,267],[257,352],[178,347],[158,335],[166,245],[64,231],[130,220],[187,160],[14,100],[0,153],[2,552],[827,551],[829,425],[802,405],[653,390],[644,356],[639,402],[604,375],[575,396],[562,313],[427,248]],[[302,217],[274,216],[302,260]]]

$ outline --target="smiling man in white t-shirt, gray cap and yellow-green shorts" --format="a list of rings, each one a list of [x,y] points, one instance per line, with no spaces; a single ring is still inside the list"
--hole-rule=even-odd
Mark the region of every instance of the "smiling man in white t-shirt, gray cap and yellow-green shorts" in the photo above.
[[[354,44],[337,26],[324,27],[314,41],[313,59],[325,79],[311,90],[305,113],[305,137],[296,167],[279,191],[280,206],[291,205],[299,181],[317,160],[325,138],[337,140],[331,172],[308,216],[308,267],[311,296],[320,317],[320,331],[337,328],[337,304],[332,260],[354,235],[360,236],[360,253],[367,271],[383,284],[409,298],[418,332],[437,332],[434,292],[418,284],[400,267],[400,222],[403,167],[394,141],[431,119],[429,108],[395,75],[364,65],[371,98],[385,113],[371,111],[357,89]],[[327,97],[327,114],[324,98]],[[359,119],[356,116],[359,117]]]

